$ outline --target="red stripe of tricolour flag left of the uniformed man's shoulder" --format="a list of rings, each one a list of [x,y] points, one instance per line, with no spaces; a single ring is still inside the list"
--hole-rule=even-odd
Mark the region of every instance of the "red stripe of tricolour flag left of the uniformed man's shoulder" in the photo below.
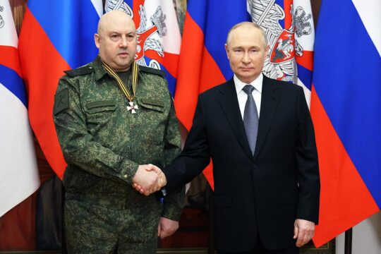
[[[68,63],[54,48],[49,37],[27,8],[18,50],[23,78],[28,89],[30,125],[47,161],[61,179],[66,168],[53,123],[54,94]]]

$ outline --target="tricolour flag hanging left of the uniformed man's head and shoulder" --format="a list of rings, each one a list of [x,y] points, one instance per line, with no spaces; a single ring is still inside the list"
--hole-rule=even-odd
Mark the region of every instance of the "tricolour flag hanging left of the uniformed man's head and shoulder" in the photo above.
[[[97,56],[94,34],[101,15],[102,0],[30,0],[25,10],[18,48],[30,124],[61,179],[66,162],[53,123],[54,94],[63,71]]]

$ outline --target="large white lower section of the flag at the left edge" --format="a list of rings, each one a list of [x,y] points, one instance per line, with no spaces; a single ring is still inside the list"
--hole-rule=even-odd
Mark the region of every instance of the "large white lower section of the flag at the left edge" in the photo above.
[[[0,83],[0,217],[40,186],[28,111]]]

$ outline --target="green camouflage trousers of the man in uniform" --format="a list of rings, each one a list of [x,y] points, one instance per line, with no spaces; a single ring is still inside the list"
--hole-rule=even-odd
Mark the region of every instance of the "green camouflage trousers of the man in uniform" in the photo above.
[[[161,212],[159,201],[143,207],[113,210],[80,200],[66,200],[64,223],[68,253],[156,253]]]

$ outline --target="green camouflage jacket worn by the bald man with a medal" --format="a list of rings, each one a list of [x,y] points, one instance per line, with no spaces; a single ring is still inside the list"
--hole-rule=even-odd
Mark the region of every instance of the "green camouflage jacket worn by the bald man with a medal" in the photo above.
[[[160,202],[131,183],[140,164],[163,168],[181,152],[174,105],[161,74],[139,66],[136,114],[127,110],[128,99],[99,57],[59,80],[54,124],[68,163],[66,198],[114,209]],[[167,195],[162,216],[179,220],[184,195],[184,189]]]

